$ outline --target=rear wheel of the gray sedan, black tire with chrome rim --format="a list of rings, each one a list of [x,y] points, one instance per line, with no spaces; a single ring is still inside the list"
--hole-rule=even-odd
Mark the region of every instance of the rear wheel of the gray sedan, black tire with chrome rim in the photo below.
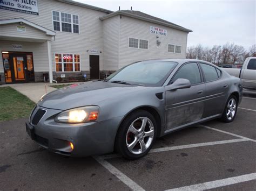
[[[223,115],[221,116],[221,121],[225,123],[230,123],[234,121],[235,116],[237,115],[238,101],[237,97],[231,95],[225,105]]]

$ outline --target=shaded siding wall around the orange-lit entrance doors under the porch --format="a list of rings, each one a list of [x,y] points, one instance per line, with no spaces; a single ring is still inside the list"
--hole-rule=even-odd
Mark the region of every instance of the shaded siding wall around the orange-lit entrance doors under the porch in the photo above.
[[[13,49],[12,44],[22,45],[22,49]],[[49,71],[47,43],[25,43],[14,41],[0,41],[1,51],[33,52],[33,65],[35,72]],[[0,54],[0,72],[4,71],[2,53]]]

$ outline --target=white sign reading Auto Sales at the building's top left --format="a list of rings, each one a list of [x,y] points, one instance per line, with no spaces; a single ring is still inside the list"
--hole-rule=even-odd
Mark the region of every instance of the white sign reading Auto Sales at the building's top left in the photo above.
[[[0,0],[0,9],[38,15],[37,0]]]

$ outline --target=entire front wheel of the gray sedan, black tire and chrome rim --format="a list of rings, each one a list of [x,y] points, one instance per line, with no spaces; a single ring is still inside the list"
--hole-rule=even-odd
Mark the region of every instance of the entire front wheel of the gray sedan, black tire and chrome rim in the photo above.
[[[124,158],[135,160],[144,157],[157,137],[157,122],[150,112],[137,110],[120,125],[115,147]]]

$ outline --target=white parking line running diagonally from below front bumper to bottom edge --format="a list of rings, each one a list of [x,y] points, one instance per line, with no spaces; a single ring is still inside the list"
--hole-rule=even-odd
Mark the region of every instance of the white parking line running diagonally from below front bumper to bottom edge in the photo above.
[[[102,166],[104,166],[108,171],[110,171],[113,175],[117,176],[117,178],[125,183],[129,188],[132,190],[144,190],[142,187],[140,187],[136,182],[134,182],[132,179],[130,179],[128,176],[126,176],[124,173],[119,171],[116,167],[111,165],[109,162],[104,160],[102,157],[93,157],[95,160],[99,162]]]

